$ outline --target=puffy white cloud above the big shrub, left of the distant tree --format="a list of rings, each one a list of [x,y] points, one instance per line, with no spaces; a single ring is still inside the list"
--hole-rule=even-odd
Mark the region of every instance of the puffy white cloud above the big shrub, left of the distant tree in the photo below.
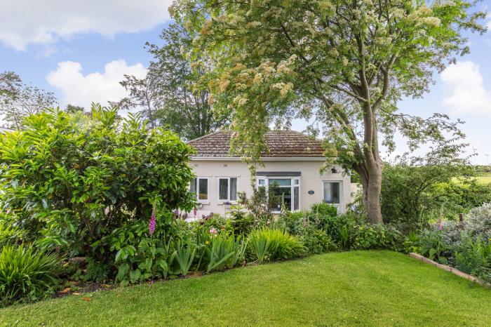
[[[147,74],[147,69],[140,63],[128,66],[124,60],[114,60],[105,65],[104,72],[84,75],[79,62],[64,61],[58,63],[58,67],[46,76],[46,80],[62,91],[63,105],[79,105],[88,109],[90,102],[107,105],[107,101],[124,98],[127,92],[119,84],[124,74],[141,79]]]

